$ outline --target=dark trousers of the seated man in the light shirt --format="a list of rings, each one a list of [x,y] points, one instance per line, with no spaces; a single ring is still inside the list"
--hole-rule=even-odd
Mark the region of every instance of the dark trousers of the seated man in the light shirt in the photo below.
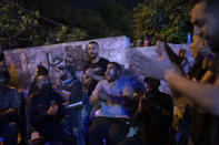
[[[115,145],[126,138],[129,131],[127,118],[120,117],[96,117],[89,128],[90,145]]]

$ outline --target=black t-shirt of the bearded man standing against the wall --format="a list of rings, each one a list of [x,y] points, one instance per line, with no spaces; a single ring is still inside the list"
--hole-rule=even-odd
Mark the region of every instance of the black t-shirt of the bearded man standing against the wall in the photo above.
[[[86,65],[86,70],[90,69],[90,68],[93,70],[98,70],[98,71],[96,71],[96,73],[100,76],[103,76],[104,72],[107,71],[108,63],[109,63],[109,61],[107,59],[100,58],[97,63],[88,62]],[[96,89],[97,84],[98,84],[98,81],[92,80],[92,82],[88,86],[88,95],[92,94],[92,91]]]

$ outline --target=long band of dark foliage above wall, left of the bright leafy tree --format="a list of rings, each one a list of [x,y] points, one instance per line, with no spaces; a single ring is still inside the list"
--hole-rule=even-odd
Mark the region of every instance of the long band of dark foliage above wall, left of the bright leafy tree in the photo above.
[[[131,12],[115,0],[77,11],[67,0],[0,1],[0,45],[29,48],[116,35],[132,38]]]

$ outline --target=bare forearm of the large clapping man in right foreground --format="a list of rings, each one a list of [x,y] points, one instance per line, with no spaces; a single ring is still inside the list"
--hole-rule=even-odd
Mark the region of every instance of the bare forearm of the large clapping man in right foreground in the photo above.
[[[192,82],[175,71],[166,70],[165,80],[170,86],[206,107],[212,114],[219,115],[219,76],[215,84]]]

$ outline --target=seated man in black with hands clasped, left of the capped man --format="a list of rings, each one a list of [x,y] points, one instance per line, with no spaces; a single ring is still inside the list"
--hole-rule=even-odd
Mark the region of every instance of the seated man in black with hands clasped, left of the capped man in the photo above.
[[[39,75],[36,83],[39,90],[30,96],[28,102],[29,122],[32,132],[39,134],[40,142],[63,142],[61,124],[63,118],[63,100],[52,90],[48,76]],[[32,141],[34,144],[34,139]]]

